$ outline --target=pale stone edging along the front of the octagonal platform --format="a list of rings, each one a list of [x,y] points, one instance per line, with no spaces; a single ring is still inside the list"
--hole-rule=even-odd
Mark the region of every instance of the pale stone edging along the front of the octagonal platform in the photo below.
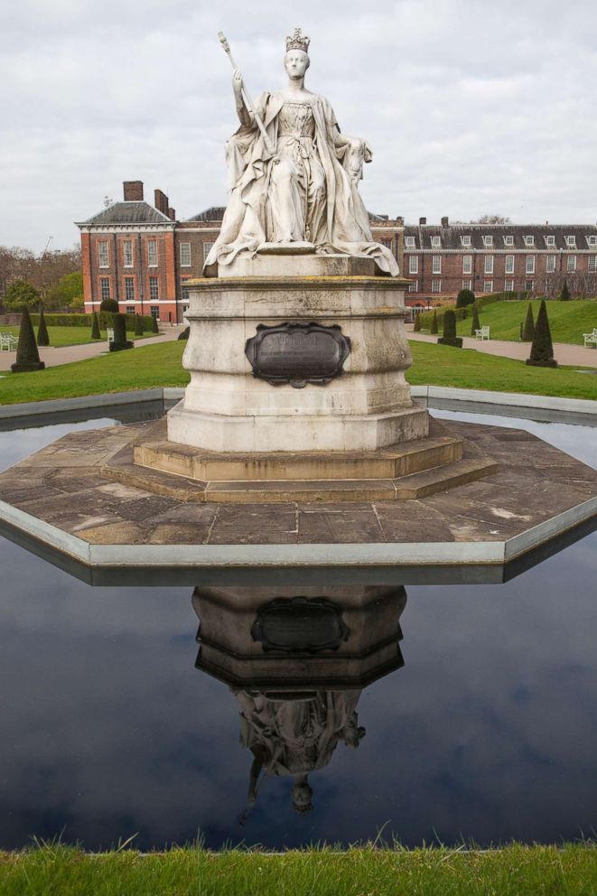
[[[0,500],[0,520],[92,567],[506,564],[597,514],[597,497],[508,541],[350,545],[90,545]]]

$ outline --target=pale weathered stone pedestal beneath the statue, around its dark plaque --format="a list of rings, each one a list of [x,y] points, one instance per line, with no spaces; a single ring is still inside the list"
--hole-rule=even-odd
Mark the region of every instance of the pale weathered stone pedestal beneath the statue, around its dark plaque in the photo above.
[[[421,439],[426,410],[405,371],[405,281],[367,258],[239,258],[188,283],[191,383],[168,415],[168,440],[227,453],[355,452]],[[350,353],[340,376],[297,388],[256,378],[245,350],[259,324],[340,327]]]

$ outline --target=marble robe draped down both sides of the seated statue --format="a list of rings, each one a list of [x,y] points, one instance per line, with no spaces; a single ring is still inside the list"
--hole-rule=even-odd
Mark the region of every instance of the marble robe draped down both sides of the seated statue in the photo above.
[[[264,93],[255,104],[271,147],[277,147],[279,113],[285,102],[291,100],[280,93]],[[367,210],[349,173],[354,166],[350,148],[336,145],[340,129],[330,103],[315,94],[309,95],[308,102],[315,122],[311,151],[325,176],[326,205],[322,226],[318,233],[309,234],[309,239],[319,251],[372,257],[384,274],[396,276],[396,258],[371,236]],[[275,159],[275,152],[268,151],[257,125],[240,126],[230,138],[227,160],[231,196],[219,238],[206,259],[206,269],[216,263],[230,264],[239,252],[253,255],[263,243],[273,241],[268,203]]]

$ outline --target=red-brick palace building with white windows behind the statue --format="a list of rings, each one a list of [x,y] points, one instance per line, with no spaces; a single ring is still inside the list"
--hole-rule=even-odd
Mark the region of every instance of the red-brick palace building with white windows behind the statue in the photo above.
[[[124,200],[77,226],[81,233],[85,310],[104,298],[122,311],[182,322],[188,307],[184,284],[202,273],[219,234],[224,209],[213,207],[180,221],[168,197],[144,199],[140,181],[124,183]],[[518,292],[552,295],[564,277],[574,294],[597,294],[597,226],[455,224],[369,215],[373,238],[391,249],[411,280],[406,303],[429,307],[463,288],[475,294]]]

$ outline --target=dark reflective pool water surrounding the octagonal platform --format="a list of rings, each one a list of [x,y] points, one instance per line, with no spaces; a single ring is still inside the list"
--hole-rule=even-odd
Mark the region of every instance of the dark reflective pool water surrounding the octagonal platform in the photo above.
[[[0,434],[0,466],[108,422]],[[594,429],[502,422],[597,465]],[[0,571],[2,848],[32,835],[91,849],[135,834],[142,848],[198,834],[348,843],[382,828],[406,845],[595,835],[597,534],[506,584],[408,586],[406,605],[400,589],[370,590],[368,610],[350,610],[357,589],[322,585],[350,628],[325,668],[317,654],[247,658],[255,608],[275,596],[255,584],[198,581],[194,606],[187,587],[90,588],[5,539]],[[197,612],[210,674],[195,668]],[[333,613],[322,635],[341,637]],[[312,794],[295,790],[312,810],[294,809],[292,777],[270,776],[239,827],[254,755],[272,770],[321,765]]]

